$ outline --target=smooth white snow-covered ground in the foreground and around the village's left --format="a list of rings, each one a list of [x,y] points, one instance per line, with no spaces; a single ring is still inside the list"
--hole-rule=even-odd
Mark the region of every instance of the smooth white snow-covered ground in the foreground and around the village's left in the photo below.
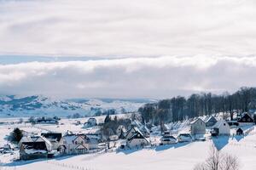
[[[98,120],[104,117],[98,117]],[[85,122],[85,119],[80,119]],[[65,132],[67,129],[74,132],[84,132],[82,125],[73,124],[75,120],[63,119],[63,125],[37,125],[29,124],[0,125],[0,144],[6,144],[5,135],[9,134],[14,127],[20,127],[27,132],[40,133],[44,129]],[[177,123],[177,127],[185,129],[184,123]],[[93,130],[93,129],[89,129]],[[157,136],[154,136],[157,138]],[[123,150],[109,153],[96,153],[80,156],[65,156],[51,160],[35,161],[13,161],[18,157],[14,155],[0,155],[2,169],[18,170],[55,170],[55,169],[81,169],[81,170],[120,170],[120,169],[193,169],[196,163],[204,161],[208,155],[210,146],[214,144],[218,149],[235,155],[239,158],[241,170],[252,170],[256,167],[256,127],[245,138],[221,137],[218,139],[207,139],[205,142],[179,143],[162,146],[148,147],[141,150]]]

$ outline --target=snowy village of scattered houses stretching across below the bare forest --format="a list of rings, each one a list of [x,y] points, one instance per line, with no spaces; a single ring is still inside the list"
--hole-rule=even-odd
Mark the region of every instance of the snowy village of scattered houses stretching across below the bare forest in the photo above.
[[[256,114],[253,110],[233,112],[232,120],[219,113],[151,127],[141,122],[139,115],[134,112],[87,118],[43,116],[5,122],[2,119],[0,158],[9,162],[9,168],[38,160],[67,169],[95,169],[79,163],[70,166],[58,160],[120,153],[128,156],[140,150],[179,150],[194,143],[199,147],[212,143],[218,150],[226,145],[241,149],[248,147],[249,150],[256,148]]]

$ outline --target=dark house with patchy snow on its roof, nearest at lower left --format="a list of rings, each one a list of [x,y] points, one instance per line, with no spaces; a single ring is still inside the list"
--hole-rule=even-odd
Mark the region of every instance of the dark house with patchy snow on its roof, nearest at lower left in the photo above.
[[[47,158],[48,150],[45,142],[23,142],[20,145],[20,160]]]

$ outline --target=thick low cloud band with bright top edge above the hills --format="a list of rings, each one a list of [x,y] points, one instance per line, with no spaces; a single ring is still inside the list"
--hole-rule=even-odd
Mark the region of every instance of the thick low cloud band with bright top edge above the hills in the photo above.
[[[167,98],[254,86],[256,57],[163,56],[0,65],[0,94]]]

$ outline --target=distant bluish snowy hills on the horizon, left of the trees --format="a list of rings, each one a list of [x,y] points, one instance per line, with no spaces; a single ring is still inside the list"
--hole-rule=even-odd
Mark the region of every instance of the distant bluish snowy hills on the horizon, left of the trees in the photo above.
[[[67,116],[79,113],[93,116],[96,111],[115,109],[137,111],[149,100],[136,99],[51,99],[42,95],[20,97],[15,95],[0,96],[0,116]]]

